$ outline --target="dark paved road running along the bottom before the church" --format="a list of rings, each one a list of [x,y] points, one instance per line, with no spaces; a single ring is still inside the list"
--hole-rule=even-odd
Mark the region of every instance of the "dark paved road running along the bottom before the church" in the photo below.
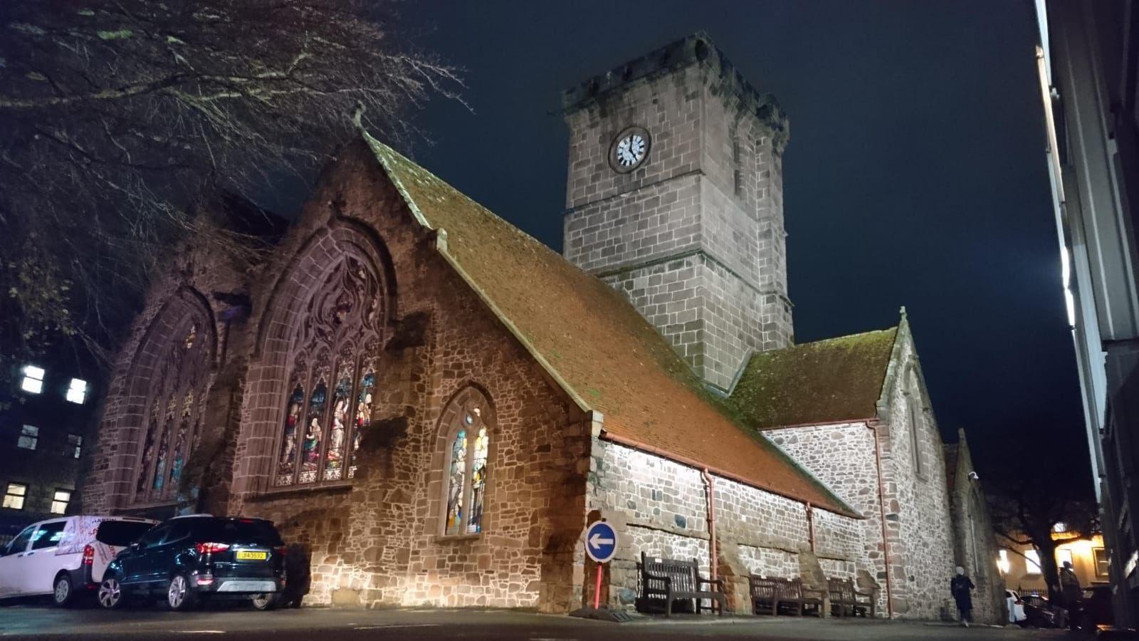
[[[19,639],[195,639],[227,641],[421,641],[494,639],[510,641],[629,641],[652,639],[819,639],[835,641],[1019,641],[1075,639],[1055,630],[1019,630],[920,623],[790,617],[726,617],[719,622],[677,617],[612,624],[565,616],[507,610],[337,610],[305,608],[259,612],[245,608],[212,608],[166,612],[133,608],[121,612],[98,609],[59,610],[36,603],[0,606],[0,638]]]

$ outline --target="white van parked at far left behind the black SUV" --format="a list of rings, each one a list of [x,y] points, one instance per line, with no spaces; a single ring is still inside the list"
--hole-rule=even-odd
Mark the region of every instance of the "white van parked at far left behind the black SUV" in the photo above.
[[[51,594],[57,606],[93,591],[120,550],[157,521],[134,517],[60,517],[32,524],[0,547],[0,599]]]

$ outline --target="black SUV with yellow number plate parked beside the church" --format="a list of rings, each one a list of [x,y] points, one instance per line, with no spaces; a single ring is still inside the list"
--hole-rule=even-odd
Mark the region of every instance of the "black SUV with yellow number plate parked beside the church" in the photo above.
[[[159,595],[172,610],[203,598],[251,599],[269,609],[285,587],[286,547],[272,521],[210,516],[159,524],[107,566],[98,599],[117,608]]]

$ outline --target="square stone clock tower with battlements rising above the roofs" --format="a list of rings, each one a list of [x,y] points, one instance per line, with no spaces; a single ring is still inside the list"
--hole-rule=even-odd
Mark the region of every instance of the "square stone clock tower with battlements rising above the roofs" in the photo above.
[[[703,33],[563,95],[564,252],[710,387],[793,340],[782,216],[788,122]]]

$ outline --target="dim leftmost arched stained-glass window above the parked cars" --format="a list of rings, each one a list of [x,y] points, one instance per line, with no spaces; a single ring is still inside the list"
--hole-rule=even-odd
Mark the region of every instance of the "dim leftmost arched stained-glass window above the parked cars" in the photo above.
[[[202,431],[202,400],[210,372],[207,335],[194,318],[182,319],[151,378],[146,432],[134,472],[134,501],[172,498]]]

